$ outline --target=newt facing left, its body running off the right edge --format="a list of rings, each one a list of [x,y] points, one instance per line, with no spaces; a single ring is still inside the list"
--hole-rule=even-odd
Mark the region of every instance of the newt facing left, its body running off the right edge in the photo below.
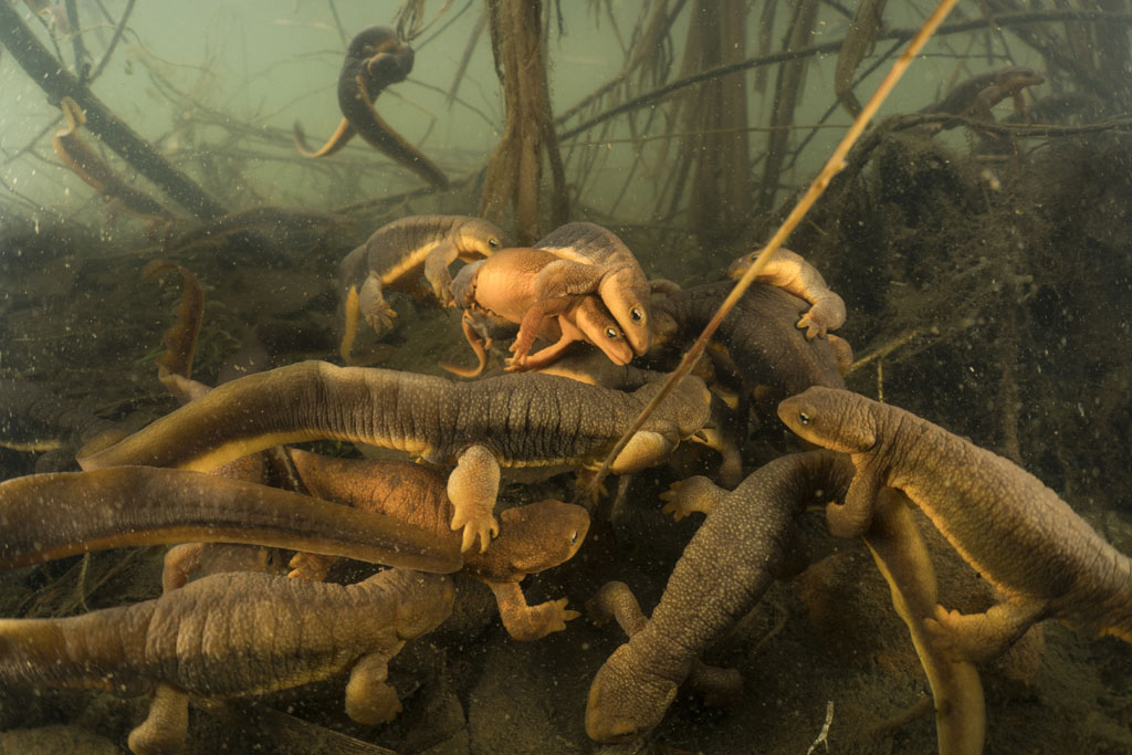
[[[911,412],[814,387],[779,404],[801,438],[849,454],[856,474],[830,531],[868,529],[886,487],[902,491],[1006,599],[985,614],[936,607],[934,642],[974,662],[1004,652],[1035,623],[1132,642],[1132,560],[1108,544],[1037,478]]]

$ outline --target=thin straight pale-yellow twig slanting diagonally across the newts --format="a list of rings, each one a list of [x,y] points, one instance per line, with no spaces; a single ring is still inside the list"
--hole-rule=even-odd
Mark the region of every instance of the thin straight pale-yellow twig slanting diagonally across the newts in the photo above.
[[[813,183],[809,185],[806,194],[803,195],[795,208],[790,211],[787,218],[782,221],[782,225],[780,225],[779,230],[774,232],[771,240],[766,242],[766,246],[758,254],[755,263],[749,269],[747,269],[746,274],[738,281],[738,283],[735,284],[735,288],[731,289],[727,299],[724,299],[723,303],[720,304],[715,315],[712,316],[707,326],[704,327],[703,333],[700,334],[700,337],[696,338],[695,343],[692,344],[692,348],[688,349],[686,354],[684,354],[684,359],[680,360],[677,368],[671,375],[669,375],[668,380],[661,389],[657,393],[653,400],[650,401],[643,410],[641,410],[641,414],[637,415],[633,426],[625,431],[614,446],[612,451],[609,452],[609,455],[606,456],[606,461],[602,462],[601,469],[599,469],[598,473],[592,480],[590,480],[590,484],[588,484],[585,489],[578,494],[577,498],[580,500],[590,496],[598,489],[598,486],[601,484],[604,477],[609,474],[609,469],[612,466],[614,460],[616,460],[621,451],[625,449],[625,446],[628,445],[629,440],[634,435],[636,435],[637,430],[644,426],[649,415],[655,411],[657,406],[659,406],[664,397],[668,396],[676,384],[679,383],[684,376],[691,372],[692,368],[695,367],[697,361],[700,361],[700,357],[703,355],[704,349],[707,346],[707,341],[719,328],[723,318],[726,318],[731,309],[735,308],[735,304],[738,303],[743,294],[746,293],[754,280],[763,272],[767,263],[770,263],[771,256],[780,246],[782,246],[782,242],[786,241],[791,231],[798,226],[798,223],[801,222],[801,218],[805,217],[806,213],[809,212],[809,208],[813,207],[815,201],[817,201],[817,198],[830,185],[830,181],[833,180],[833,177],[844,168],[846,156],[849,154],[849,149],[857,141],[860,135],[864,134],[865,127],[867,127],[868,122],[873,120],[873,115],[876,114],[877,110],[880,110],[881,104],[889,96],[889,93],[892,92],[897,81],[899,81],[900,77],[904,75],[906,70],[908,70],[912,59],[932,37],[932,34],[940,27],[940,24],[943,23],[943,19],[947,17],[947,14],[958,1],[959,0],[941,0],[940,5],[936,7],[935,11],[933,11],[932,16],[928,17],[923,28],[920,28],[919,33],[912,38],[908,49],[904,50],[903,54],[901,54],[899,59],[897,59],[887,75],[885,75],[884,79],[876,87],[876,92],[873,93],[873,96],[865,104],[865,108],[861,110],[860,115],[857,117],[857,120],[855,120],[852,126],[849,127],[849,130],[841,139],[841,143],[833,151],[833,154],[830,155],[825,166],[822,168],[821,173],[818,173],[817,178],[815,178]]]

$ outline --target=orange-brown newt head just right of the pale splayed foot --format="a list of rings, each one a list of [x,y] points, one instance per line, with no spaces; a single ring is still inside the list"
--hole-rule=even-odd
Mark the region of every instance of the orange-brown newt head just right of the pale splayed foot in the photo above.
[[[590,531],[590,514],[582,506],[548,499],[504,509],[499,524],[500,539],[506,540],[499,544],[506,544],[511,565],[537,574],[574,558]]]

